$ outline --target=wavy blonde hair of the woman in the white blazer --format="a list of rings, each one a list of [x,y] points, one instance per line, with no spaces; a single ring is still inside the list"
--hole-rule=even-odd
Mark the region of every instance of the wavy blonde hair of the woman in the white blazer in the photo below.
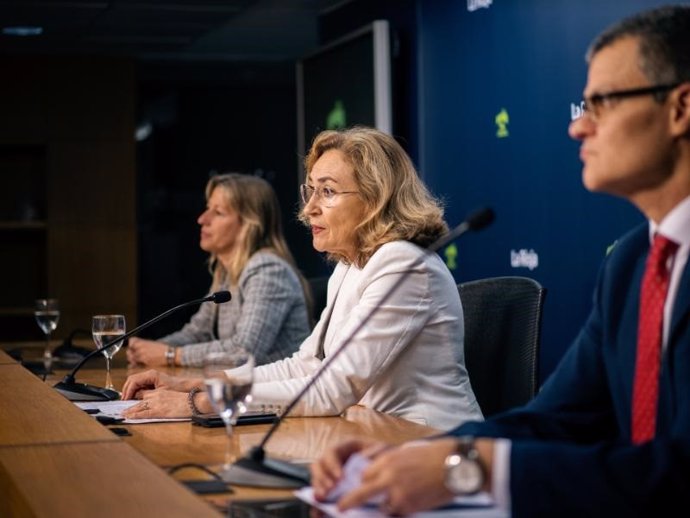
[[[356,227],[358,253],[353,262],[357,267],[362,268],[390,241],[426,247],[448,232],[442,203],[420,180],[412,160],[393,137],[364,126],[322,131],[304,159],[307,176],[331,149],[339,150],[352,166],[358,195],[366,207],[366,216]],[[308,225],[304,207],[299,219]],[[328,258],[349,262],[341,254],[328,254]]]

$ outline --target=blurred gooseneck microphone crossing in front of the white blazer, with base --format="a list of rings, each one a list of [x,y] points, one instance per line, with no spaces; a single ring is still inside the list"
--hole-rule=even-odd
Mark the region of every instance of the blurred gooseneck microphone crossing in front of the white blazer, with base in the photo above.
[[[447,234],[439,237],[436,241],[431,243],[426,249],[427,254],[438,251],[441,247],[447,245],[454,239],[462,236],[469,231],[482,230],[493,223],[496,214],[490,207],[484,207],[470,214],[465,221],[453,228]],[[411,270],[410,270],[411,271]],[[406,274],[403,274],[406,276]],[[403,277],[404,278],[404,277]],[[402,281],[402,279],[401,279]],[[369,314],[359,323],[359,325],[348,335],[343,341],[343,344],[328,358],[325,358],[321,363],[319,369],[312,375],[309,382],[300,390],[297,395],[290,401],[281,412],[278,419],[276,419],[268,432],[264,435],[258,446],[254,446],[246,457],[240,458],[237,462],[232,464],[230,468],[226,469],[222,475],[223,480],[230,484],[250,485],[258,487],[279,487],[279,488],[298,488],[310,482],[309,470],[303,466],[298,466],[287,461],[277,459],[270,459],[266,457],[265,446],[268,440],[273,436],[278,427],[283,422],[283,419],[292,411],[297,403],[302,399],[304,394],[316,383],[321,375],[328,369],[333,361],[340,355],[340,353],[347,348],[352,342],[353,338],[359,331],[369,322],[371,317],[376,314],[376,311],[395,293],[401,282],[396,282],[391,288],[381,297],[378,305],[369,312]]]

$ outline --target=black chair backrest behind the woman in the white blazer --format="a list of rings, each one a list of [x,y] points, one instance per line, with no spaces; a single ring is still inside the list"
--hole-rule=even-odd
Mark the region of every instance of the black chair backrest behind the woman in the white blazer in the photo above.
[[[465,365],[484,417],[537,393],[546,289],[528,277],[458,284],[465,316]]]

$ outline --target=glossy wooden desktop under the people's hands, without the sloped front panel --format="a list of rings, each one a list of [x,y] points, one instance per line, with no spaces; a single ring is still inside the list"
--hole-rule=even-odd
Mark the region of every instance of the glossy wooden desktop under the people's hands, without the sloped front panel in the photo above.
[[[118,368],[112,372],[113,383],[121,387],[127,374],[141,369]],[[181,376],[199,376],[199,369],[161,369]],[[102,384],[102,370],[80,371],[78,380]],[[154,464],[172,468],[185,463],[197,463],[216,472],[222,470],[228,456],[239,458],[252,446],[261,442],[269,425],[242,425],[235,427],[231,449],[224,428],[204,428],[189,422],[151,423],[125,426],[131,437],[124,441],[141,452]],[[341,416],[288,417],[266,445],[271,457],[308,463],[316,459],[328,446],[347,437],[366,436],[399,444],[412,439],[428,437],[438,430],[354,406]],[[179,478],[205,478],[198,470],[180,471]],[[254,498],[292,497],[292,490],[261,489],[235,486],[230,500]],[[226,500],[228,498],[226,497]],[[218,505],[223,505],[214,499]]]

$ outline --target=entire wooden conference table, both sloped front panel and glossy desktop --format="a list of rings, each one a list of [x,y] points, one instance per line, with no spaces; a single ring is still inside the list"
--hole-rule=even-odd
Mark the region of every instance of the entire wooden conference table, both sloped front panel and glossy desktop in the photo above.
[[[0,355],[0,360],[3,357]],[[121,362],[120,362],[121,363]],[[128,371],[113,370],[121,387]],[[177,374],[199,371],[177,369]],[[231,494],[197,496],[179,480],[205,479],[200,470],[169,468],[185,463],[220,471],[263,438],[269,425],[238,426],[231,448],[224,428],[190,422],[128,425],[117,437],[16,363],[0,362],[0,516],[222,516],[231,501],[292,498],[292,490],[234,486]],[[103,384],[102,369],[82,369],[77,381]],[[307,462],[350,436],[401,443],[437,430],[352,407],[338,417],[287,418],[267,444],[273,457]],[[212,504],[212,505],[209,505]]]

